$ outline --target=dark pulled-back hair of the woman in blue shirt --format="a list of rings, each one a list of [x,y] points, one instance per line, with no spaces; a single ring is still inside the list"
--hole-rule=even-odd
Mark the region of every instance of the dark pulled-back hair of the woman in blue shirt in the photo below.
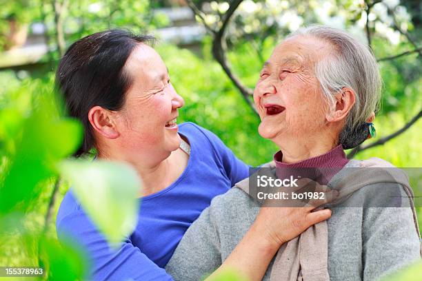
[[[138,43],[153,43],[154,37],[127,30],[106,30],[83,37],[70,45],[56,73],[56,88],[64,97],[68,114],[83,124],[83,143],[74,156],[86,154],[95,140],[88,112],[96,105],[120,110],[132,77],[123,71]]]

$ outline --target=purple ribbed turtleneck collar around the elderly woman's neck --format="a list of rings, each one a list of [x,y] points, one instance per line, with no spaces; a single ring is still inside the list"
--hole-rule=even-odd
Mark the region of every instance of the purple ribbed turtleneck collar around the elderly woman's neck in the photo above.
[[[278,178],[288,178],[291,175],[301,176],[302,178],[316,180],[321,185],[327,185],[331,178],[349,161],[341,145],[334,147],[325,154],[305,159],[298,163],[283,163],[281,162],[282,159],[283,153],[281,151],[274,154]]]

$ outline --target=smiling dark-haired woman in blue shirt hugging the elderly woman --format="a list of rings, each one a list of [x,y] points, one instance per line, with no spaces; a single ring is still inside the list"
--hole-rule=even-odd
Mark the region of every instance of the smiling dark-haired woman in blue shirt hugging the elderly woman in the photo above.
[[[72,189],[61,202],[59,239],[86,252],[92,280],[172,280],[163,267],[183,233],[214,196],[248,176],[248,166],[217,136],[194,123],[177,125],[183,98],[148,45],[151,40],[123,30],[92,34],[70,46],[57,70],[69,113],[85,129],[76,155],[95,148],[98,159],[125,161],[143,180],[139,223],[117,251]],[[263,209],[221,268],[236,267],[256,279],[280,241],[330,217],[328,209],[311,213],[313,209]],[[268,223],[279,217],[283,219]]]

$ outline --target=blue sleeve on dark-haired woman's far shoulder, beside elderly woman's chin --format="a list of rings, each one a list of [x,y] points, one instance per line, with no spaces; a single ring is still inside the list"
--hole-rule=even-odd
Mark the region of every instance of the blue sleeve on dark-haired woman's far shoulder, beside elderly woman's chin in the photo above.
[[[249,176],[250,166],[239,160],[239,158],[233,154],[230,148],[225,146],[218,136],[210,132],[208,129],[204,129],[198,125],[195,126],[198,127],[205,137],[208,138],[208,141],[210,141],[214,154],[220,161],[225,174],[228,178],[230,178],[232,186],[234,186],[235,183],[239,183],[239,181],[243,180],[243,178],[247,178]]]

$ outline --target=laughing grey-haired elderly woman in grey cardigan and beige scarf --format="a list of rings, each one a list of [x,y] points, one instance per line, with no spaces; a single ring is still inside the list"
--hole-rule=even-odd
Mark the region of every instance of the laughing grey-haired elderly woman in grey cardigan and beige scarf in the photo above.
[[[345,32],[305,28],[278,45],[254,90],[259,134],[280,148],[274,155],[276,174],[312,168],[320,183],[330,186],[349,176],[347,168],[359,161],[348,160],[343,148],[368,138],[380,87],[374,56]],[[374,194],[390,189],[405,198],[405,189],[365,180],[368,185],[332,207],[325,229],[318,227],[321,222],[283,244],[263,279],[374,280],[418,260],[421,244],[412,208],[353,204],[356,198],[371,203]],[[214,198],[185,233],[166,267],[175,280],[199,280],[214,271],[257,218],[261,205],[248,191],[252,185],[244,180],[237,187]]]

